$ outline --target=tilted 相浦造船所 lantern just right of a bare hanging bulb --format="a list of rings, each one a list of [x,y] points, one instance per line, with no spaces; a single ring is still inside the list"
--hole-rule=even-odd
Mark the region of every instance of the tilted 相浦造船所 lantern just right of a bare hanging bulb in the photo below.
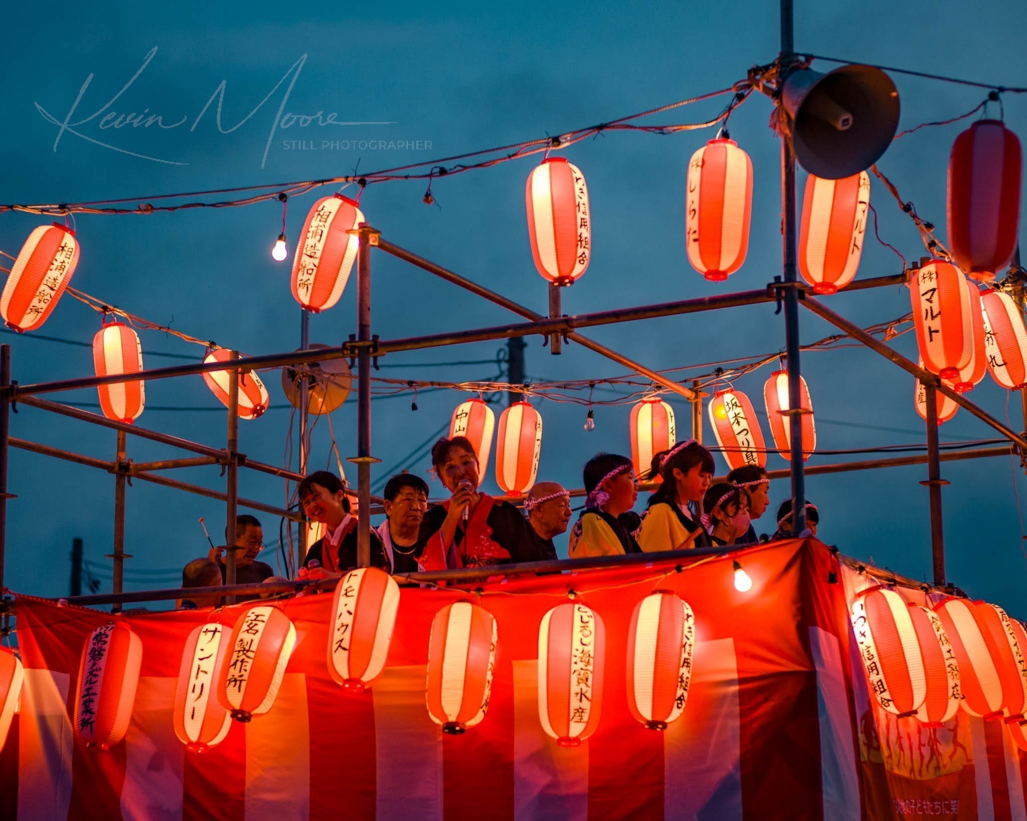
[[[364,222],[354,200],[336,194],[310,208],[293,258],[293,297],[311,313],[339,302],[356,261],[359,237],[349,233]]]

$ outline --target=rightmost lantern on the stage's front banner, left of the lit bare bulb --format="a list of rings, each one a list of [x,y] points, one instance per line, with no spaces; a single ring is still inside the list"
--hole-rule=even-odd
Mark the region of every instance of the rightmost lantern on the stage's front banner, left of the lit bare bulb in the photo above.
[[[657,590],[632,614],[627,633],[627,706],[649,730],[667,730],[688,699],[695,616],[674,593]]]

